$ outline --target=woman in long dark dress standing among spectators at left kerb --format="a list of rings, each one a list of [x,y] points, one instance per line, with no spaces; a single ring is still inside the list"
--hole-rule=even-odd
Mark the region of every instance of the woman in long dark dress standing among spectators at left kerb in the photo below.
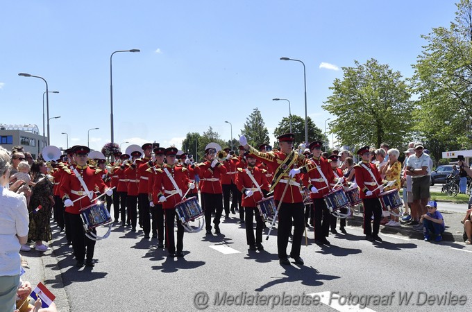
[[[43,241],[51,241],[52,239],[49,220],[51,219],[51,207],[54,205],[53,184],[46,177],[46,164],[40,160],[33,162],[33,165],[31,165],[31,174],[33,175],[35,187],[33,187],[31,193],[28,209],[33,211],[28,237],[36,241],[35,250],[44,252],[48,250],[48,246],[44,245]],[[36,211],[37,207],[40,206],[41,209]]]

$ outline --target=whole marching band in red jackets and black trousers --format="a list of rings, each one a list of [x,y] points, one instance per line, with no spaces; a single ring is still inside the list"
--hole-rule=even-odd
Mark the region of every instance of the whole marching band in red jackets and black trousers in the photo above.
[[[337,233],[340,218],[340,230],[346,233],[344,226],[351,206],[361,201],[366,239],[382,241],[378,236],[384,202],[381,197],[383,188],[391,184],[382,180],[371,164],[369,146],[357,151],[362,161],[354,166],[355,181],[346,182],[338,157],[327,159],[321,155],[321,141],[312,141],[307,148],[301,144],[297,150],[294,135],[287,133],[277,139],[280,150],[272,150],[268,144],[256,149],[248,145],[243,135],[237,155],[229,148],[210,143],[201,163],[193,162],[191,155],[179,154],[177,148],[152,149],[150,143],[132,145],[124,154],[113,153],[108,166],[103,154],[90,153],[86,146],[73,146],[67,155],[58,155],[53,149],[54,156],[46,160],[53,164],[50,174],[54,194],[62,199],[56,200],[54,217],[61,229],[65,227],[77,266],[94,266],[95,241],[108,237],[113,221],[121,221],[122,227],[130,226],[132,232],[140,225],[144,239],[152,234],[158,248],[166,248],[169,257],[184,257],[185,229],[198,232],[204,226],[206,235],[212,235],[212,229],[214,234],[221,234],[223,211],[224,218],[229,218],[235,208],[239,209],[240,223],[245,225],[249,250],[264,250],[262,233],[266,222],[271,222],[269,234],[278,223],[278,259],[284,266],[291,264],[289,257],[298,265],[304,264],[301,243],[303,232],[306,240],[310,216],[315,243],[330,245],[326,239],[330,227],[332,233]],[[200,178],[198,184],[196,177]],[[97,200],[103,196],[108,203],[106,208]],[[192,227],[195,220],[199,227]],[[105,236],[96,235],[99,226],[109,227]],[[291,235],[292,247],[287,254]]]

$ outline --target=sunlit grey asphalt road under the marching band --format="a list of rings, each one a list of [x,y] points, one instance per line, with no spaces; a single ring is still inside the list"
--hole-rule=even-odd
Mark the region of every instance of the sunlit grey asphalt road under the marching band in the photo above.
[[[328,238],[331,247],[319,247],[309,229],[308,245],[301,250],[305,266],[280,266],[276,231],[269,241],[264,236],[263,252],[253,252],[236,221],[221,223],[219,235],[185,233],[184,258],[167,257],[155,241],[142,239],[141,231],[114,226],[108,239],[96,243],[92,269],[75,268],[60,234],[52,245],[64,286],[60,277],[46,282],[53,293],[65,290],[70,311],[81,312],[198,311],[205,306],[204,311],[299,311],[312,310],[315,304],[319,311],[356,311],[362,306],[353,304],[368,299],[367,308],[373,311],[472,308],[469,278],[464,275],[472,249],[463,243],[430,243],[393,234],[381,234],[383,243],[371,243],[360,227],[348,227],[347,235]],[[350,294],[348,304],[343,296]],[[400,302],[405,295],[411,296],[409,304]],[[301,296],[298,305],[296,296]],[[453,296],[464,304],[452,305]]]

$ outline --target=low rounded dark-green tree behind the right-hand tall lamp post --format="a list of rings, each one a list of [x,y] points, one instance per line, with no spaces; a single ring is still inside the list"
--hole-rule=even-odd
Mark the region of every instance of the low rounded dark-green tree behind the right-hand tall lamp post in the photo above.
[[[328,146],[328,137],[323,134],[323,131],[314,124],[310,117],[307,118],[307,124],[308,143],[312,141],[322,141],[325,146]],[[278,137],[288,132],[290,132],[290,120],[288,117],[283,117],[278,123],[278,127],[273,130],[273,135]],[[297,145],[305,141],[305,119],[303,117],[292,115],[292,133],[295,135]]]

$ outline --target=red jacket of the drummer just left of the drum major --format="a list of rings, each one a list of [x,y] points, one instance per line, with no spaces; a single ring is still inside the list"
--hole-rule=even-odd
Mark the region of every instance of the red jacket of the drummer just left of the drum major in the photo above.
[[[264,176],[264,170],[261,170],[258,167],[247,167],[248,171],[251,172],[253,175],[255,182],[258,182],[259,187],[262,190],[262,184],[264,184],[267,179]],[[257,203],[262,200],[262,193],[258,191],[257,187],[255,186],[251,177],[249,177],[248,173],[243,168],[237,168],[237,177],[236,177],[236,186],[239,191],[242,193],[242,206],[243,207],[257,207]],[[246,194],[244,191],[246,189],[251,189],[253,191],[253,196],[246,198]]]

